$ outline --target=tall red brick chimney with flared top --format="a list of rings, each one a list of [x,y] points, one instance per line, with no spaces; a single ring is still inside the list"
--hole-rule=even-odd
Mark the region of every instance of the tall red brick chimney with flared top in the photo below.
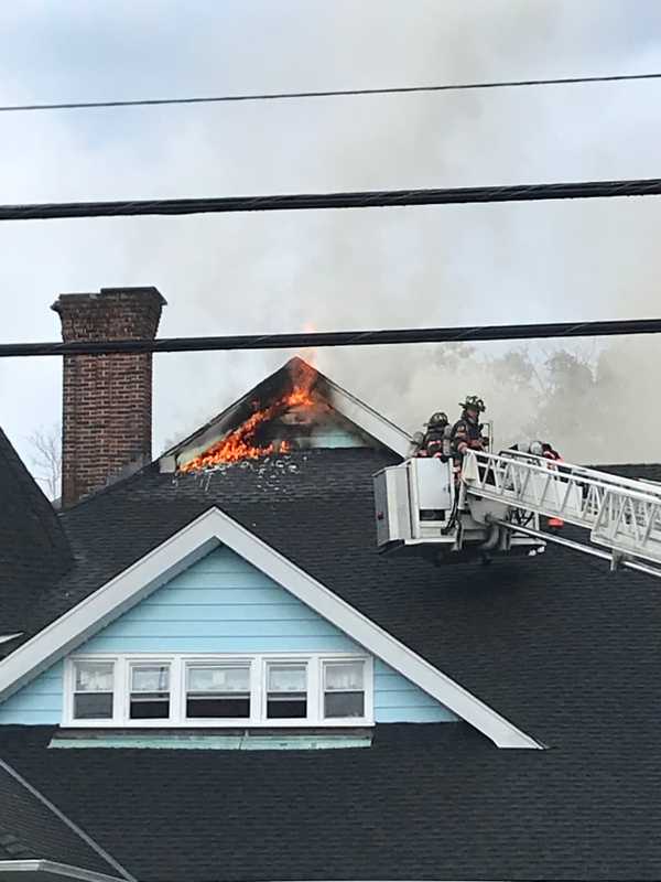
[[[61,294],[52,309],[65,343],[153,340],[165,299],[155,288]],[[62,504],[151,461],[152,355],[65,355]]]

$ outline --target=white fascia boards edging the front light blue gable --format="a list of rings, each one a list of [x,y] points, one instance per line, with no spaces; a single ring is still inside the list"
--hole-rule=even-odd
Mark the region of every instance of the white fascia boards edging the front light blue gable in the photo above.
[[[219,544],[231,548],[499,747],[541,749],[530,735],[218,508],[209,508],[0,662],[0,699]]]

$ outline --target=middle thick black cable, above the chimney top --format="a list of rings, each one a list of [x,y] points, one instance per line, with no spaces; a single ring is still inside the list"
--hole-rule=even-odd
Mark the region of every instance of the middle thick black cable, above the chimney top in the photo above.
[[[369,190],[354,193],[293,193],[277,196],[216,198],[118,200],[0,205],[0,220],[48,220],[71,217],[218,214],[224,212],[292,212],[321,208],[376,208],[402,205],[462,205],[486,202],[589,200],[661,195],[661,179],[578,181],[562,184],[464,186],[434,190]]]

